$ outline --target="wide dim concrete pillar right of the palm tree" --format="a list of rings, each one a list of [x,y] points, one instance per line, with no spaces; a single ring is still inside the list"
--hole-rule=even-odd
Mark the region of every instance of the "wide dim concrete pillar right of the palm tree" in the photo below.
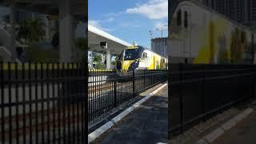
[[[70,62],[74,47],[74,26],[71,1],[59,1],[59,61]]]

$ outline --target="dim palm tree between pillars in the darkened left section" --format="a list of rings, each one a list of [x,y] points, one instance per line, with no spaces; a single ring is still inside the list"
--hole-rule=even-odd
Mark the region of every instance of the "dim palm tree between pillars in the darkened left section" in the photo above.
[[[45,36],[43,23],[40,19],[26,19],[18,28],[18,40],[29,45],[41,41]]]

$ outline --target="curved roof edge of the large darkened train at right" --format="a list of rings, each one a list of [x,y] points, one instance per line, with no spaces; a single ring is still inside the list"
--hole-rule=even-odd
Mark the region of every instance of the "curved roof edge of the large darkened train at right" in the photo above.
[[[244,25],[242,25],[241,23],[236,22],[236,21],[234,21],[233,19],[226,17],[226,15],[224,15],[224,14],[220,14],[220,13],[218,13],[217,11],[212,10],[210,7],[203,5],[202,2],[198,2],[198,1],[196,1],[196,0],[180,0],[180,1],[178,2],[178,5],[175,7],[174,13],[177,11],[178,6],[182,5],[182,3],[190,3],[190,4],[192,3],[192,4],[197,5],[197,6],[202,6],[204,9],[209,10],[210,12],[212,12],[212,13],[214,13],[214,14],[217,14],[218,16],[220,16],[220,17],[222,17],[222,18],[224,18],[224,19],[226,19],[226,20],[228,20],[228,21],[234,23],[235,25],[241,26],[242,28],[244,28],[244,29],[246,29],[246,30],[250,30],[250,27],[244,26]],[[173,13],[173,15],[174,15],[174,13]],[[250,31],[251,31],[252,33],[254,33],[252,30],[250,30]]]

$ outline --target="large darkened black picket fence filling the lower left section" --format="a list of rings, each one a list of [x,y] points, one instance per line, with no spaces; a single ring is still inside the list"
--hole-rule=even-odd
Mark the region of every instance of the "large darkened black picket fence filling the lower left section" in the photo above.
[[[81,63],[0,62],[0,143],[85,143]]]

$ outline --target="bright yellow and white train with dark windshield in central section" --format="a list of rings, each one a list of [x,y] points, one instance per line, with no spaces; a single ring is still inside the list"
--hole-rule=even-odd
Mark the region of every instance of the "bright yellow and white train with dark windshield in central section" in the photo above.
[[[146,49],[143,46],[130,46],[119,56],[117,70],[127,73],[132,70],[167,69],[167,58]]]

